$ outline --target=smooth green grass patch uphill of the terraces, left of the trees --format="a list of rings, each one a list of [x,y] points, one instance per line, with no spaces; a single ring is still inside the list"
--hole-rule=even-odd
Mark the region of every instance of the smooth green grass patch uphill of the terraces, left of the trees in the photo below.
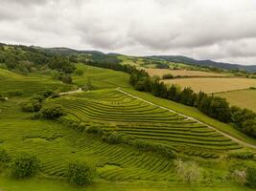
[[[129,75],[126,73],[101,69],[84,64],[77,64],[77,68],[83,71],[83,75],[74,76],[73,81],[80,87],[87,83],[88,77],[96,89],[130,87],[128,84]]]

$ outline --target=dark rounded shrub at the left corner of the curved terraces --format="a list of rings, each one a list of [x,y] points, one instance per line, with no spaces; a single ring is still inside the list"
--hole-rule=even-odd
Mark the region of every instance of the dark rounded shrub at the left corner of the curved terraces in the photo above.
[[[40,110],[39,117],[46,119],[56,119],[63,116],[64,113],[59,105],[44,107]]]

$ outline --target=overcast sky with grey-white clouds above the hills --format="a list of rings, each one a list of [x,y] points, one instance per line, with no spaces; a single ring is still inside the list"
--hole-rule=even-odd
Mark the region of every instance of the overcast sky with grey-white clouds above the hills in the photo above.
[[[256,0],[0,0],[0,42],[256,64]]]

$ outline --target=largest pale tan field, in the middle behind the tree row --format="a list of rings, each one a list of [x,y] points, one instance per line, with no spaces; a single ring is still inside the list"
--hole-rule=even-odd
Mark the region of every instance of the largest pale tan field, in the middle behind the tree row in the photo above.
[[[224,77],[195,77],[162,80],[167,84],[177,84],[182,88],[191,87],[195,92],[202,91],[207,94],[221,93],[233,90],[243,90],[256,87],[256,79],[224,78]]]

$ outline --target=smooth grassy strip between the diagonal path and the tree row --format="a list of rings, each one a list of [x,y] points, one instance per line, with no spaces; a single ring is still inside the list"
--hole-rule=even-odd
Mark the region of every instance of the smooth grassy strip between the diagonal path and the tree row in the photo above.
[[[220,122],[220,121],[218,121],[214,118],[207,117],[206,115],[199,112],[197,108],[185,106],[185,105],[176,103],[176,102],[171,101],[171,100],[158,98],[158,97],[155,97],[155,96],[151,96],[150,94],[137,92],[137,91],[134,91],[134,90],[131,90],[131,89],[125,89],[125,91],[127,91],[131,95],[139,96],[139,97],[144,98],[148,101],[151,101],[154,104],[158,104],[158,105],[167,107],[169,109],[175,110],[178,113],[181,113],[181,114],[184,114],[184,115],[187,115],[187,116],[190,116],[190,117],[195,117],[198,120],[200,120],[200,121],[202,121],[206,124],[209,124],[209,125],[217,128],[217,129],[221,130],[222,132],[224,132],[226,134],[229,134],[229,135],[231,135],[235,138],[239,138],[241,140],[244,140],[244,142],[248,142],[248,143],[256,145],[256,139],[248,138],[243,133],[237,131],[236,129],[234,129],[230,125],[222,123],[222,122]]]

